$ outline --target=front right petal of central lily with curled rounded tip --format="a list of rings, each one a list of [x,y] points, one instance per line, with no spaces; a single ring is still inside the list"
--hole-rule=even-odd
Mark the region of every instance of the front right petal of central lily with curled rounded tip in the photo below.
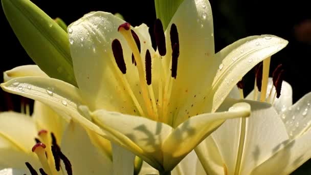
[[[180,124],[165,139],[162,146],[165,170],[174,168],[202,140],[223,124],[226,119],[248,117],[250,110],[249,104],[237,103],[228,112],[202,114],[191,117]]]

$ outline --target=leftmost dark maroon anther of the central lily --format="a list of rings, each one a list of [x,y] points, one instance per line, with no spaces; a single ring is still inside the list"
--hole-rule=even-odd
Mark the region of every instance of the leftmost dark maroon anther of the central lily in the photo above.
[[[118,39],[113,40],[112,49],[113,49],[114,57],[118,65],[118,68],[123,74],[126,74],[126,65],[125,65],[124,57],[123,57],[123,50],[122,50],[121,43]]]

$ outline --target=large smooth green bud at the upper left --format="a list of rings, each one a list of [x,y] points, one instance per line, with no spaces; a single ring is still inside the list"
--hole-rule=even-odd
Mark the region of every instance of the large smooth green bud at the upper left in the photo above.
[[[67,33],[28,0],[2,0],[2,7],[21,45],[40,69],[77,86]]]

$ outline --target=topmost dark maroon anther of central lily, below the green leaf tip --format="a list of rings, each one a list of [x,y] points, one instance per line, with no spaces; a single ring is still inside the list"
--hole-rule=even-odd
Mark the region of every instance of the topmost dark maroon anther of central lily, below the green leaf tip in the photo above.
[[[156,21],[154,21],[153,33],[154,38],[156,39],[159,54],[164,56],[166,54],[166,43],[163,25],[160,19],[156,19]]]

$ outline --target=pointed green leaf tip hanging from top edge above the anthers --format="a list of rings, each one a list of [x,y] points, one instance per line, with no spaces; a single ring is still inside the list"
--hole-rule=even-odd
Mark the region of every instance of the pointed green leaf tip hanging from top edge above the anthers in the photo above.
[[[161,19],[163,28],[166,30],[177,8],[184,0],[154,0],[157,18]]]

